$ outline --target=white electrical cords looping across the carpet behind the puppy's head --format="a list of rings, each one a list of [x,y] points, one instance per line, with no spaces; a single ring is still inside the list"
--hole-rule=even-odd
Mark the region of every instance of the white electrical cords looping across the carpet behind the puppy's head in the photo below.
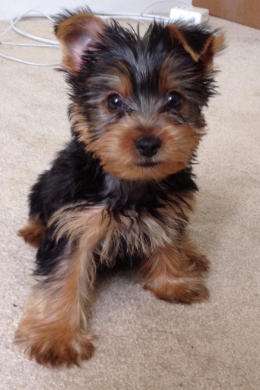
[[[166,18],[164,16],[161,16],[161,15],[154,15],[154,14],[144,14],[144,12],[151,8],[152,6],[156,5],[156,4],[160,4],[160,3],[178,3],[178,5],[180,4],[185,4],[185,5],[189,5],[185,0],[173,0],[173,1],[169,1],[169,0],[166,0],[166,1],[157,1],[155,3],[152,3],[150,4],[148,7],[146,7],[140,14],[125,14],[125,13],[95,13],[95,15],[98,15],[101,19],[104,19],[104,20],[107,20],[107,19],[129,19],[129,20],[136,20],[136,21],[139,21],[141,22],[145,27],[148,27],[148,24],[145,23],[145,22],[152,22],[154,20],[159,20],[159,21],[164,21],[164,22],[169,22],[170,21],[170,18]],[[192,5],[190,5],[192,7]],[[10,46],[27,46],[27,47],[51,47],[51,48],[59,48],[60,45],[59,45],[59,42],[57,40],[52,40],[52,39],[46,39],[46,38],[41,38],[41,37],[37,37],[35,35],[32,35],[32,34],[28,34],[22,30],[20,30],[16,24],[22,20],[24,17],[27,16],[27,18],[35,18],[36,15],[33,15],[33,16],[28,16],[28,14],[38,14],[38,17],[40,15],[40,17],[44,17],[44,18],[47,18],[49,20],[51,20],[52,22],[54,21],[50,16],[44,14],[43,12],[40,12],[40,11],[36,11],[36,10],[29,10],[27,12],[25,12],[24,14],[22,14],[21,16],[17,17],[17,18],[14,18],[13,20],[10,21],[10,26],[5,30],[3,31],[1,34],[0,34],[0,39],[2,37],[4,37],[10,30],[13,30],[15,31],[17,34],[23,36],[23,37],[26,37],[26,38],[29,38],[29,39],[33,39],[33,40],[37,40],[39,42],[43,42],[41,44],[36,44],[36,43],[13,43],[13,42],[2,42],[0,41],[0,45],[10,45]],[[17,58],[13,58],[13,57],[10,57],[10,56],[6,56],[5,54],[2,54],[0,53],[0,57],[3,57],[5,59],[11,59],[13,61],[17,61],[17,62],[20,62],[20,63],[23,63],[23,64],[28,64],[28,65],[34,65],[34,66],[56,66],[56,65],[59,65],[59,63],[45,63],[45,64],[42,64],[42,63],[34,63],[34,62],[28,62],[28,61],[24,61],[22,59],[17,59]]]

